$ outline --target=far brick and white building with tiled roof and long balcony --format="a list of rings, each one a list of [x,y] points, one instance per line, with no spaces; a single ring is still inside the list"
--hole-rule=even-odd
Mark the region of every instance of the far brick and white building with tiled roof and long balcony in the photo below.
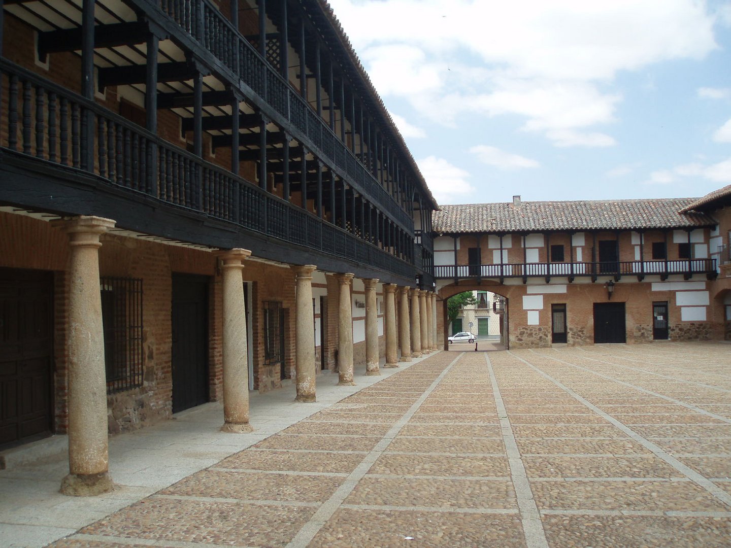
[[[504,297],[511,348],[729,338],[730,196],[444,205],[436,286]]]

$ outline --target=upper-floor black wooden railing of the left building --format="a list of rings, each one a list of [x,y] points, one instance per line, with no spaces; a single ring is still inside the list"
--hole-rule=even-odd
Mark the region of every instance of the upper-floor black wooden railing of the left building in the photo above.
[[[227,66],[234,75],[260,96],[276,112],[292,123],[319,149],[320,159],[328,161],[345,173],[349,183],[368,195],[409,232],[414,221],[395,198],[371,174],[327,126],[310,105],[289,86],[260,53],[254,49],[234,26],[208,0],[135,0],[153,4],[175,21],[183,31]]]

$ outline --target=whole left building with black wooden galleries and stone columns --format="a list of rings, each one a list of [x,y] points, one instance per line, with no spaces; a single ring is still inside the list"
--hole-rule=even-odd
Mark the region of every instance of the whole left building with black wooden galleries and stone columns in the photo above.
[[[93,484],[107,426],[243,431],[249,388],[431,349],[436,202],[327,2],[0,0],[0,32],[0,449],[69,431]]]

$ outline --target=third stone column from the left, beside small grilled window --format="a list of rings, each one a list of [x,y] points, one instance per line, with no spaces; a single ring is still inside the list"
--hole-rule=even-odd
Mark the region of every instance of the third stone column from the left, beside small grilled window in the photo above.
[[[293,266],[297,273],[296,324],[295,324],[295,401],[312,403],[315,395],[315,333],[312,311],[312,273],[315,265]]]

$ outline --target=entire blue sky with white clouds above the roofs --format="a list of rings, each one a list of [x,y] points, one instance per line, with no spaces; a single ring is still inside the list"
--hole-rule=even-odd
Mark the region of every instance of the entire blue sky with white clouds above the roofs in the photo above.
[[[731,183],[729,0],[330,0],[441,204]]]

